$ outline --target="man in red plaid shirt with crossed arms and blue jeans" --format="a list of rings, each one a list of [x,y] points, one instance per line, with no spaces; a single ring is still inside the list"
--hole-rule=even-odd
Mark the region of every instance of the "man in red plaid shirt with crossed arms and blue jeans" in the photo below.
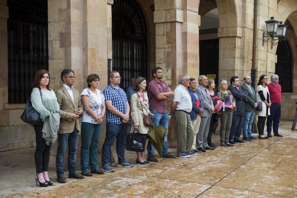
[[[162,68],[156,67],[152,69],[151,75],[154,80],[149,83],[149,107],[150,112],[154,114],[153,122],[155,126],[161,124],[161,126],[168,129],[168,114],[166,110],[166,102],[167,98],[173,96],[172,89],[161,79],[163,78]],[[163,158],[175,158],[175,155],[172,155],[168,152],[167,149],[167,134],[164,138],[162,157]],[[154,156],[154,147],[149,142],[147,146],[148,150],[148,160],[149,161],[158,161],[158,159]]]

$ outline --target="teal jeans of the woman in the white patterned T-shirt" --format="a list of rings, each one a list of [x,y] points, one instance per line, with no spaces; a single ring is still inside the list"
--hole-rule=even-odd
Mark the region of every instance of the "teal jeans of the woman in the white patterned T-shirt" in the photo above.
[[[98,141],[101,135],[102,123],[93,124],[82,122],[81,124],[81,148],[80,148],[80,167],[81,171],[98,169]]]

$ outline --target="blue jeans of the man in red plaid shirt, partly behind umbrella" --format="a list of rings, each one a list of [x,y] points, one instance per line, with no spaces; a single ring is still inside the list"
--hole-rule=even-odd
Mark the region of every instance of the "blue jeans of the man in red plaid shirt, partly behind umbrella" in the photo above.
[[[150,109],[150,112],[152,114],[154,114],[154,116],[155,116],[153,118],[154,126],[158,126],[159,124],[161,124],[161,126],[163,126],[167,129],[167,132],[166,132],[166,135],[164,138],[164,143],[163,143],[163,150],[162,150],[162,154],[165,155],[168,153],[168,149],[167,149],[168,114],[167,113],[159,113],[153,109]],[[148,143],[147,150],[148,150],[148,156],[154,155],[154,146],[151,144],[150,141]]]

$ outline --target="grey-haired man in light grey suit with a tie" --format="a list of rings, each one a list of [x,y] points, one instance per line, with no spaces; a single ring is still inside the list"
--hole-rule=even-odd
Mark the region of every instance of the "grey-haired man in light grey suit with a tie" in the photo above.
[[[211,113],[214,112],[214,104],[210,98],[209,92],[206,89],[207,77],[205,75],[201,75],[198,78],[199,87],[195,89],[196,94],[199,95],[200,102],[203,102],[204,111],[201,116],[201,122],[199,131],[197,134],[197,147],[198,150],[202,152],[206,152],[206,150],[214,150],[215,148],[211,148],[207,144],[207,135],[209,131],[210,117]]]

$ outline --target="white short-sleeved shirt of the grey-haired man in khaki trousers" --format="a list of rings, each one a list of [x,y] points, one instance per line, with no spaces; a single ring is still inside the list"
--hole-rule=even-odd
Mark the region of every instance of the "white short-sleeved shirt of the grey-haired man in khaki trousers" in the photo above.
[[[184,110],[188,113],[192,111],[192,99],[188,89],[179,84],[174,90],[173,102],[178,102],[176,110]]]

